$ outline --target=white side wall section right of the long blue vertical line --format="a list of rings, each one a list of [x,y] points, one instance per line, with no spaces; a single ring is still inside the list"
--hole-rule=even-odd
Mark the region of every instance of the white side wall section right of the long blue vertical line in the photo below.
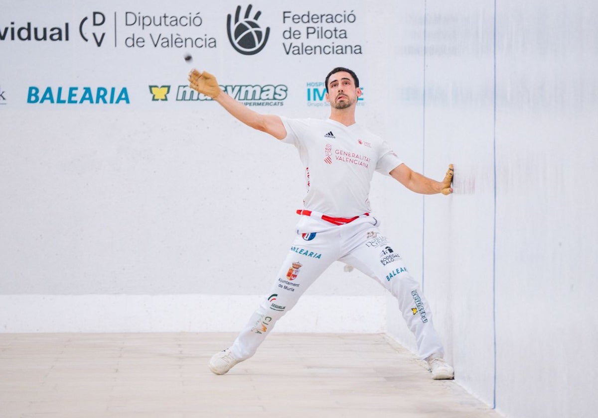
[[[598,363],[585,353],[598,348],[598,196],[588,185],[598,5],[506,2],[497,19],[497,403],[523,416],[595,416]],[[541,365],[533,377],[515,377],[530,364]]]

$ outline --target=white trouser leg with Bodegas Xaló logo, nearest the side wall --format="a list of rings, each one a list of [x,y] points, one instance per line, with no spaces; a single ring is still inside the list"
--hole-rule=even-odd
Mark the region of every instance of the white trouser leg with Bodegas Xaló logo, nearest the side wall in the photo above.
[[[379,229],[364,223],[347,242],[350,251],[340,261],[376,279],[398,301],[408,328],[416,337],[421,358],[443,356],[444,349],[434,325],[428,302],[419,282],[407,271],[404,261]]]

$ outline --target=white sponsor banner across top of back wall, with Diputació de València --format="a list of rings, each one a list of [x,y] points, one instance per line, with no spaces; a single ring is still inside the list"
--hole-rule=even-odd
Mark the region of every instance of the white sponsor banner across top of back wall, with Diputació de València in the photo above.
[[[362,76],[368,54],[359,1],[1,4],[0,102],[14,109],[209,109],[193,67],[248,106],[319,107],[328,71]]]

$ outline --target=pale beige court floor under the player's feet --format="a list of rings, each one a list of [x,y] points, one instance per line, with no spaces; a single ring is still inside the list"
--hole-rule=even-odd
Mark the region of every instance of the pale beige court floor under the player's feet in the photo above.
[[[0,334],[0,417],[500,417],[382,334],[273,333],[215,376],[233,339]]]

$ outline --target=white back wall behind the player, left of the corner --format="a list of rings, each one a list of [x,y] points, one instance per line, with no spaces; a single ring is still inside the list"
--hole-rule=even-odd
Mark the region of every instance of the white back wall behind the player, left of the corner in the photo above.
[[[271,33],[260,54],[244,56],[234,51],[227,35],[227,14],[234,16],[237,2],[141,6],[59,1],[51,10],[38,4],[2,2],[0,53],[11,64],[0,69],[5,91],[0,109],[0,329],[239,329],[288,251],[295,209],[302,206],[304,169],[294,147],[234,121],[216,103],[176,101],[176,90],[187,84],[191,69],[182,57],[190,51],[193,66],[215,73],[221,84],[284,85],[282,106],[255,107],[262,112],[325,118],[328,110],[314,106],[324,103],[307,100],[308,83],[324,81],[340,64],[355,69],[367,89],[365,63],[376,54],[366,45],[367,8],[357,1],[332,7],[317,1],[276,7],[253,2],[251,16],[261,11],[258,21]],[[284,21],[285,11],[334,13],[341,20],[351,15],[355,21],[294,23]],[[93,26],[93,12],[101,12],[105,24]],[[199,27],[129,24],[138,14],[197,13]],[[28,22],[48,30],[64,28],[63,41],[19,40],[19,28]],[[89,42],[80,35],[80,25]],[[307,26],[337,27],[347,38],[307,39]],[[291,27],[302,34],[295,44],[359,45],[363,53],[286,54],[283,43],[290,41],[283,32]],[[26,30],[21,33],[25,37]],[[144,47],[126,46],[133,34],[145,38]],[[154,47],[152,37],[158,35],[212,38],[216,46]],[[103,42],[98,46],[94,39]],[[169,100],[151,100],[150,85],[170,85]],[[41,91],[51,86],[54,94],[57,87],[81,92],[84,86],[124,86],[130,103],[27,103],[30,86]],[[367,121],[367,93],[360,110]],[[203,307],[202,315],[188,303],[189,295]],[[236,303],[219,309],[231,295],[237,296]],[[123,303],[123,296],[131,297]],[[69,309],[61,308],[65,304]],[[98,314],[106,311],[111,314]],[[384,311],[382,288],[337,263],[297,307],[307,319],[295,321],[293,316],[300,314],[293,312],[277,330],[382,332]],[[119,312],[128,319],[115,321]],[[155,312],[167,318],[158,319]],[[187,319],[194,315],[195,321]]]

